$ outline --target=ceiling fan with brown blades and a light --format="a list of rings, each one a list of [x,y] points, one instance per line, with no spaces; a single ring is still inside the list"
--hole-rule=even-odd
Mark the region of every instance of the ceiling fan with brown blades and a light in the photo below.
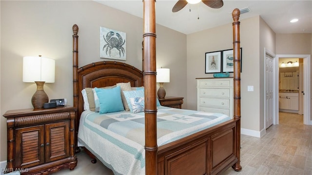
[[[175,6],[172,8],[172,12],[180,11],[188,3],[195,4],[199,3],[200,1],[211,8],[221,8],[223,6],[222,0],[178,0]]]

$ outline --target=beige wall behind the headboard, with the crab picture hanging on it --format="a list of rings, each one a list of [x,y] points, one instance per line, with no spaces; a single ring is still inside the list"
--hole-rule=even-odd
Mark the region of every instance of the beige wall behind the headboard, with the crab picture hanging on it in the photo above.
[[[73,104],[72,26],[79,27],[79,66],[109,60],[99,58],[99,27],[127,34],[127,61],[141,70],[143,20],[94,1],[0,1],[0,161],[6,160],[7,110],[32,108],[34,83],[22,82],[22,57],[39,55],[56,60],[55,83],[46,83],[50,99]],[[157,68],[171,70],[164,85],[169,96],[186,94],[186,35],[157,25]],[[168,39],[170,38],[170,39]],[[112,60],[110,60],[112,61]],[[186,99],[185,99],[186,101]],[[186,107],[186,105],[183,107]]]

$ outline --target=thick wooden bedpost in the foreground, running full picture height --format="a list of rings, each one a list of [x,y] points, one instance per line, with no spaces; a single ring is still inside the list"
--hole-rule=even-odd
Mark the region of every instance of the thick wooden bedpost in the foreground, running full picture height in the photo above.
[[[157,174],[155,0],[143,0],[143,74],[145,91],[145,174]]]

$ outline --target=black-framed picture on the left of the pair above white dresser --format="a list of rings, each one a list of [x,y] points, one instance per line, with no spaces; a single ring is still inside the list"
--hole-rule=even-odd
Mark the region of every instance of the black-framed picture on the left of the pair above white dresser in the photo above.
[[[205,73],[221,72],[221,51],[205,53]]]

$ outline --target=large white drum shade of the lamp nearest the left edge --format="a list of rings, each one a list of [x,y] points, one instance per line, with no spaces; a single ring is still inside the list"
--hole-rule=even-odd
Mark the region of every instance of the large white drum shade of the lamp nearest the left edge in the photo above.
[[[23,57],[23,82],[54,83],[55,60],[39,56]]]

